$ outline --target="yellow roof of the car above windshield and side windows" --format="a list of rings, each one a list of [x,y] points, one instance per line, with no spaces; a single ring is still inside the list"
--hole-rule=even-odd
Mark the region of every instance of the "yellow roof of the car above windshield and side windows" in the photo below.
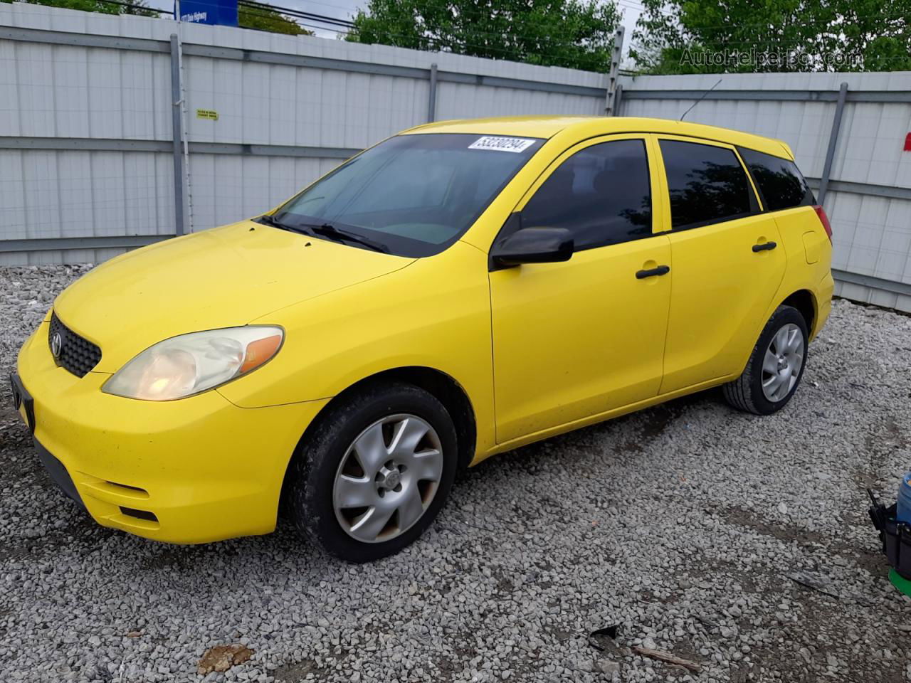
[[[743,133],[740,130],[705,126],[688,121],[646,117],[491,117],[438,121],[404,131],[415,133],[476,133],[480,135],[553,138],[558,133],[575,134],[579,140],[617,133],[665,133],[704,138],[729,145],[756,149],[776,157],[793,159],[783,140]]]

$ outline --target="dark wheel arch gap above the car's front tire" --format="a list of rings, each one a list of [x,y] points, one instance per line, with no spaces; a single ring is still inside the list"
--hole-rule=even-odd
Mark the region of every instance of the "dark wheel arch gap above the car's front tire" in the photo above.
[[[337,405],[343,398],[350,396],[353,392],[361,391],[364,387],[371,384],[390,382],[413,384],[424,389],[425,392],[433,394],[440,403],[443,403],[446,411],[452,417],[453,423],[455,424],[455,436],[458,442],[459,469],[462,469],[471,463],[472,459],[475,457],[477,443],[475,410],[472,406],[471,399],[468,398],[468,393],[462,385],[459,382],[456,382],[455,378],[451,375],[436,370],[435,368],[429,368],[422,365],[409,365],[375,372],[372,375],[368,375],[367,377],[363,377],[363,379],[354,382],[343,389],[343,391],[338,392],[333,396],[329,403],[322,406],[319,413],[316,413],[316,416],[301,434],[298,445],[307,438],[308,434],[312,433],[325,416],[332,412],[333,406]],[[292,459],[297,457],[297,454],[298,449],[295,448],[294,453],[288,460],[289,466],[285,468],[284,480],[281,484],[282,500],[285,498],[288,473],[291,471],[290,465]]]

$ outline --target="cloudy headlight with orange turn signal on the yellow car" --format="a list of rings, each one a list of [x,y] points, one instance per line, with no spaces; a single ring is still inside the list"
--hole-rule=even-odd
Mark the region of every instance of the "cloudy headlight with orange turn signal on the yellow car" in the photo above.
[[[171,401],[240,377],[278,352],[281,327],[249,325],[191,332],[149,346],[114,373],[101,391]]]

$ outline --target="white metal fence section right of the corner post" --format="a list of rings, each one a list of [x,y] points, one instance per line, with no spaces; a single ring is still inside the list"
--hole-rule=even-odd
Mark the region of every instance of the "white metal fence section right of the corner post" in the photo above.
[[[793,148],[832,219],[835,293],[911,311],[911,72],[620,77],[617,107],[680,118],[700,97],[685,120]]]

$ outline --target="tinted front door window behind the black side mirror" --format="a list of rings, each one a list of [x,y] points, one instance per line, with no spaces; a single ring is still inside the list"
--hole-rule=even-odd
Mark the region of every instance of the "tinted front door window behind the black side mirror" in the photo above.
[[[649,237],[645,142],[603,142],[568,158],[528,201],[522,226],[566,228],[573,233],[577,250]]]

